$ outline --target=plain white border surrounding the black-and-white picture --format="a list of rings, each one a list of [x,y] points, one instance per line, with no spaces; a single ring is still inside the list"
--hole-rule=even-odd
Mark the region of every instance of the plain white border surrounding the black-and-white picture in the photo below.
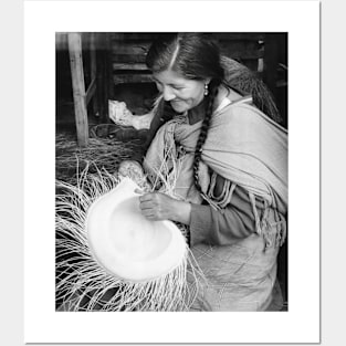
[[[289,32],[287,313],[55,312],[54,57],[59,31]],[[25,1],[24,339],[319,342],[318,1]]]

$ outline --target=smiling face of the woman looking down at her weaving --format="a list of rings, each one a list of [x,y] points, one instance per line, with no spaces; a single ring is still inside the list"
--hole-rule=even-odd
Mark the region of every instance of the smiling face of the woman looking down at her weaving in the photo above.
[[[187,80],[171,70],[154,73],[153,76],[165,101],[170,102],[177,113],[192,109],[200,104],[205,97],[205,84],[209,82]]]

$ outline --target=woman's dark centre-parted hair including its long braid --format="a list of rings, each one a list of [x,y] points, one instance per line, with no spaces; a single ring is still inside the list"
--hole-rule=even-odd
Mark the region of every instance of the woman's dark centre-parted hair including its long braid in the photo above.
[[[219,48],[199,33],[164,34],[150,46],[146,63],[154,73],[171,70],[188,80],[203,81],[210,78],[209,93],[206,96],[207,102],[205,102],[206,115],[197,140],[193,159],[195,185],[202,192],[198,181],[199,162],[202,146],[208,135],[218,87],[224,77]]]

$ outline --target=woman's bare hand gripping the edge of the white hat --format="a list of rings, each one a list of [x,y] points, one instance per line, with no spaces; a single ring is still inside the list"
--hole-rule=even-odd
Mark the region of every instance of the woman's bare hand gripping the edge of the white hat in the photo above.
[[[191,206],[161,192],[148,192],[139,196],[141,214],[148,220],[171,220],[190,223]]]

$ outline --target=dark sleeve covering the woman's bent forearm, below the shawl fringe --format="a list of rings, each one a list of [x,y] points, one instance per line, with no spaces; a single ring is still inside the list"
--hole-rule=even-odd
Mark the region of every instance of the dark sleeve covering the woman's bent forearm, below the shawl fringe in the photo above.
[[[261,213],[261,202],[256,201]],[[255,231],[250,198],[245,189],[237,186],[231,202],[221,210],[209,205],[191,205],[190,243],[205,242],[211,245],[226,245],[234,240],[249,237]]]

